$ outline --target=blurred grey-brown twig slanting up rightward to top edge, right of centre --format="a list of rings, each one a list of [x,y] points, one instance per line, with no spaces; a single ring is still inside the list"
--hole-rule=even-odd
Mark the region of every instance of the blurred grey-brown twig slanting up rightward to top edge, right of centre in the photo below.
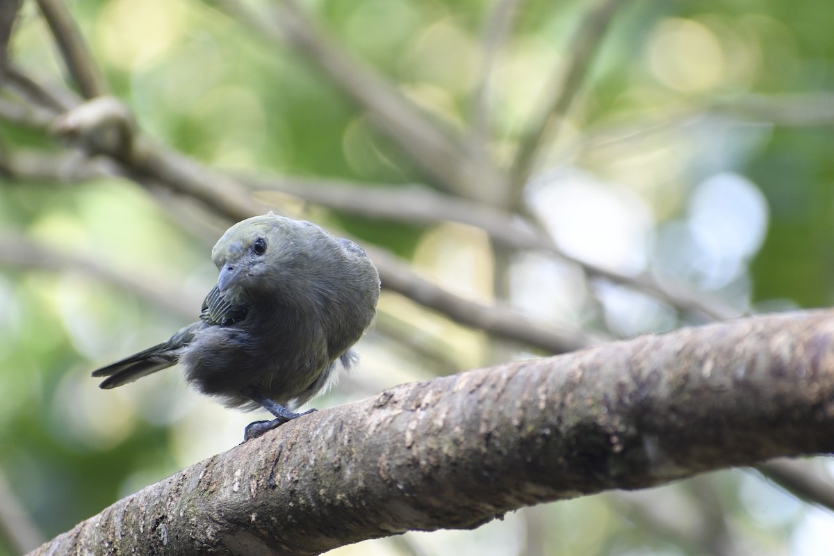
[[[558,93],[550,99],[544,112],[535,118],[534,125],[520,140],[515,163],[510,170],[513,206],[519,206],[527,180],[535,164],[536,155],[544,144],[553,139],[555,129],[567,115],[585,76],[590,73],[605,30],[623,0],[602,0],[590,8],[570,42],[572,57],[564,70],[559,68],[553,87]]]

